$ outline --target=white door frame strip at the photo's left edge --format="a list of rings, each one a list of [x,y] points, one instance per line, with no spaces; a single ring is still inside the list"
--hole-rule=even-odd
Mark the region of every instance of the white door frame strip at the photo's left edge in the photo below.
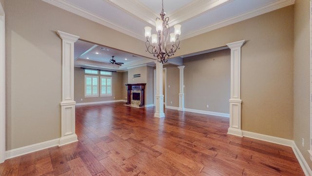
[[[0,163],[5,160],[5,18],[0,3]]]

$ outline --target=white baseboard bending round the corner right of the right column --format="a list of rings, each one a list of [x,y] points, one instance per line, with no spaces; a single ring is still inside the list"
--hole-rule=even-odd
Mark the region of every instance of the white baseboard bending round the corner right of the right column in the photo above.
[[[253,139],[258,139],[258,140],[262,140],[262,141],[266,141],[266,142],[271,142],[274,144],[279,144],[279,145],[291,147],[293,153],[295,154],[296,158],[298,159],[298,162],[299,162],[304,174],[306,176],[312,176],[311,168],[309,167],[307,161],[305,160],[305,158],[303,157],[303,155],[301,154],[300,150],[298,149],[297,145],[295,144],[295,142],[293,140],[269,136],[269,135],[265,135],[265,134],[259,134],[259,133],[255,133],[255,132],[247,132],[247,131],[242,131],[242,132],[243,132],[243,136],[245,136],[245,137],[250,137]]]

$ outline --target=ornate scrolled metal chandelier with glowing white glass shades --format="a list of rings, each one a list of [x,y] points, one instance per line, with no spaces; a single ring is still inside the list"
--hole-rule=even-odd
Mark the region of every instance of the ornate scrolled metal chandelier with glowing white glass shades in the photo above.
[[[181,24],[174,25],[175,33],[170,33],[170,26],[168,24],[169,17],[164,18],[166,13],[164,12],[164,1],[162,0],[162,10],[160,18],[156,18],[156,32],[157,34],[151,35],[152,28],[146,26],[145,37],[146,37],[146,51],[157,57],[157,61],[160,63],[166,63],[169,57],[173,56],[179,48],[179,36],[181,34]],[[170,43],[168,44],[170,36]],[[152,37],[152,44],[150,43],[150,37]],[[157,40],[158,38],[158,40]]]

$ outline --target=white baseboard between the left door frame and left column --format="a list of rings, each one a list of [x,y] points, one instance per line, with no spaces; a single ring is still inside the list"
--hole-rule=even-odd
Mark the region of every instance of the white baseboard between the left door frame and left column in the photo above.
[[[21,156],[24,154],[30,154],[30,153],[37,152],[37,151],[47,149],[50,147],[55,147],[58,145],[59,145],[59,138],[49,140],[49,141],[45,141],[45,142],[40,142],[38,144],[33,144],[33,145],[21,147],[18,149],[5,151],[5,159],[14,158],[14,157]]]

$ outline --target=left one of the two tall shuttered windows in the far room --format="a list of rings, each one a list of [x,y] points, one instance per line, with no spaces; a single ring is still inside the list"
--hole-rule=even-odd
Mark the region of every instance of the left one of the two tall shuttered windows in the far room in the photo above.
[[[85,97],[98,97],[98,76],[84,76]]]

